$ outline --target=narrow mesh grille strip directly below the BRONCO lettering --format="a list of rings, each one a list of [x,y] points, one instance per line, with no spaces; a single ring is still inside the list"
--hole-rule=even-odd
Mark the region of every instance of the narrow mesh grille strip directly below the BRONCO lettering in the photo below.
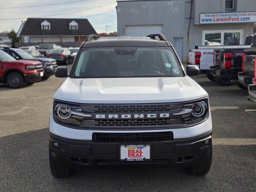
[[[150,126],[170,125],[170,118],[167,119],[103,119],[94,120],[95,126]]]

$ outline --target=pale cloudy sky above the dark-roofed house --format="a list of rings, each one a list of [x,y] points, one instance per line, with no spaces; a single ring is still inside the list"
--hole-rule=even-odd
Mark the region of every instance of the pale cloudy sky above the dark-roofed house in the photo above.
[[[12,28],[17,32],[21,21],[28,17],[87,18],[98,33],[106,32],[106,25],[108,32],[116,31],[116,0],[74,1],[78,0],[0,0],[0,32],[10,31]],[[10,8],[63,2],[72,3]]]

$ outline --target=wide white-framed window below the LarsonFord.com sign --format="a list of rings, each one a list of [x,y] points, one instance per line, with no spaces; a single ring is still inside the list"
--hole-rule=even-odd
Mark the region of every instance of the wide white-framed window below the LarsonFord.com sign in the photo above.
[[[243,30],[203,31],[202,44],[205,46],[242,45]]]

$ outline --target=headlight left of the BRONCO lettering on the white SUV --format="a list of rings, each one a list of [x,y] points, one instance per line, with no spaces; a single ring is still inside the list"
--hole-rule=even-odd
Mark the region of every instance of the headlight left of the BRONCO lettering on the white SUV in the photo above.
[[[54,115],[60,122],[75,125],[80,125],[84,118],[92,117],[91,114],[84,114],[84,111],[80,106],[61,103],[55,106]]]

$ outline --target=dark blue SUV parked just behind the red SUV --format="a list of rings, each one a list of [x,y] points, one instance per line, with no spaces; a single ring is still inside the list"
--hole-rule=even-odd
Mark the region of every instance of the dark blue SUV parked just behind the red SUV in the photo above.
[[[55,69],[57,68],[56,60],[52,58],[34,58],[27,52],[17,48],[4,48],[2,49],[10,56],[15,58],[16,60],[34,60],[39,61],[42,64],[44,69],[44,76],[43,79],[47,79],[54,74]]]

